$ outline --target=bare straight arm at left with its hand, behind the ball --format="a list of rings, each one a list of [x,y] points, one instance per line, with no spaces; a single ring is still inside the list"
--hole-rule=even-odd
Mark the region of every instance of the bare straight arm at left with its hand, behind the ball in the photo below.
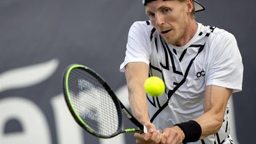
[[[143,62],[128,63],[125,67],[128,96],[132,114],[147,128],[147,134],[134,134],[137,144],[159,143],[160,132],[150,122],[147,97],[143,84],[148,77],[149,66]]]

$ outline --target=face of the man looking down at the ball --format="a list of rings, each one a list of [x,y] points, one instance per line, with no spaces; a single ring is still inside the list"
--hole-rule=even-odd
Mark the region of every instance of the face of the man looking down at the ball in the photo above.
[[[167,44],[178,46],[186,36],[191,18],[186,1],[152,1],[145,6],[145,13]]]

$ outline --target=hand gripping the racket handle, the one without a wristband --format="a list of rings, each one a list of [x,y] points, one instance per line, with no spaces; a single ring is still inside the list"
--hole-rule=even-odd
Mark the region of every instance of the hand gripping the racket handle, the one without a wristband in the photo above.
[[[158,144],[161,141],[161,135],[154,124],[150,121],[146,122],[145,127],[147,128],[147,134],[138,134],[135,133],[134,137],[137,144]]]

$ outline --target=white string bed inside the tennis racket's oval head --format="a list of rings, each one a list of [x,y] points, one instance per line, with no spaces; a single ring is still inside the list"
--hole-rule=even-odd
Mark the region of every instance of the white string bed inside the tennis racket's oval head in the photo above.
[[[115,103],[94,76],[80,69],[73,70],[68,86],[71,103],[89,128],[103,136],[119,130],[121,121]]]

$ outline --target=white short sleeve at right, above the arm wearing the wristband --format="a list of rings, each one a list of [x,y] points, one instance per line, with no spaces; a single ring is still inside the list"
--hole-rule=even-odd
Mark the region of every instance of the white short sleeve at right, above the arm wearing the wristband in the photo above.
[[[233,89],[233,93],[242,90],[243,65],[236,38],[227,31],[216,34],[210,46],[213,46],[206,72],[206,85],[218,85]]]

